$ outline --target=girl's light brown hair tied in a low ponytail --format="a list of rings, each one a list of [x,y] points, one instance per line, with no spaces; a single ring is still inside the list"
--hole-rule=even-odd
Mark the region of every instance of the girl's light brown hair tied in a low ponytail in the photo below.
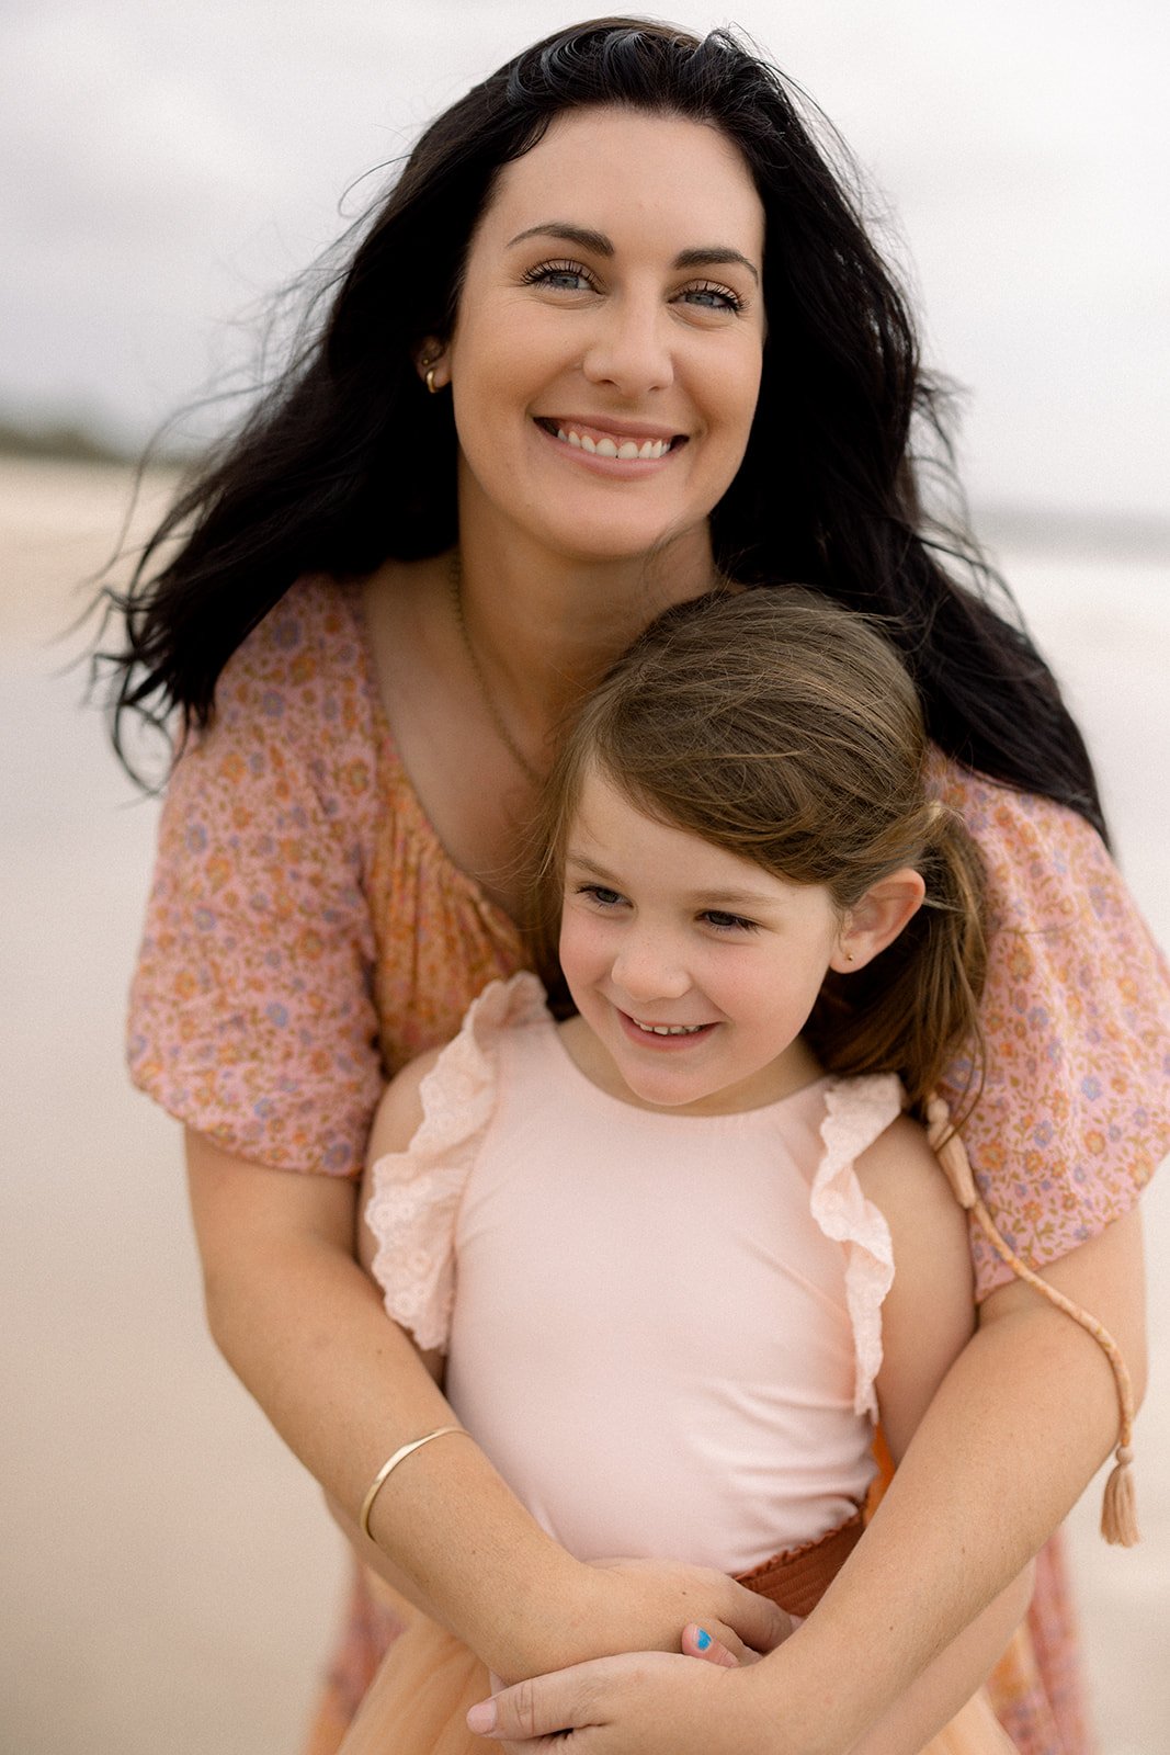
[[[842,914],[910,865],[924,906],[865,969],[828,974],[803,1034],[833,1072],[898,1072],[916,1107],[963,1055],[974,1093],[982,870],[963,823],[930,795],[928,756],[914,684],[865,618],[779,586],[681,604],[567,734],[539,825],[537,935],[556,942],[565,846],[591,770],[649,816],[777,878],[824,885]]]

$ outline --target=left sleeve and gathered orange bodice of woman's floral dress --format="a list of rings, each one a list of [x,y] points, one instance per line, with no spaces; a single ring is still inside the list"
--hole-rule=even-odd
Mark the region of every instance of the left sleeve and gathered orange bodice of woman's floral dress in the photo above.
[[[246,1158],[356,1176],[388,1074],[523,962],[398,762],[356,593],[302,581],[226,665],[170,779],[135,1083]]]

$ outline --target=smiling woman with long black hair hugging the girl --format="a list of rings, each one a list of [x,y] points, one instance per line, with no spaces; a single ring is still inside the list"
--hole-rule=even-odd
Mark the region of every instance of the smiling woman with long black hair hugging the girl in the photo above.
[[[553,728],[716,565],[891,618],[1002,927],[972,1157],[1017,1248],[1140,1374],[1130,1209],[1166,1143],[1161,976],[1056,684],[923,537],[916,414],[935,423],[903,302],[779,77],[724,33],[595,23],[426,132],[319,337],[147,553],[119,707],[179,709],[189,735],[132,1062],[188,1127],[212,1332],[351,1522],[379,1464],[449,1416],[353,1260],[347,1176],[384,1072],[521,967],[517,853]],[[981,1332],[833,1615],[807,1623],[798,1664],[768,1660],[793,1750],[847,1748],[1110,1446],[1093,1343],[979,1253],[977,1269]],[[1051,1402],[1024,1393],[1037,1358]],[[986,1450],[956,1444],[972,1409]],[[730,1583],[577,1567],[475,1446],[423,1455],[379,1494],[367,1558],[389,1557],[502,1676],[677,1650],[695,1618],[767,1643]],[[498,1557],[486,1594],[467,1587],[465,1543]],[[895,1571],[903,1548],[916,1562]],[[389,1637],[363,1613],[370,1650],[351,1643],[317,1748]],[[903,1669],[882,1662],[891,1618]],[[874,1665],[842,1669],[861,1637]],[[700,1748],[716,1746],[712,1678],[668,1683]],[[1082,1748],[1075,1704],[1058,1688],[1058,1723],[1033,1680],[1017,1667],[1002,1687],[1017,1744]],[[668,1746],[691,1746],[679,1737],[672,1722]]]

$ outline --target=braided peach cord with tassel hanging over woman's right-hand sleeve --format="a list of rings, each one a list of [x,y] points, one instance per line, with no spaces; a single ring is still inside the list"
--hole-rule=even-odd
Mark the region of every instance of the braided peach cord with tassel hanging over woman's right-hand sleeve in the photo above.
[[[1105,1483],[1105,1501],[1102,1504],[1102,1536],[1116,1546],[1133,1548],[1133,1544],[1140,1541],[1131,1467],[1133,1385],[1130,1381],[1126,1362],[1121,1357],[1121,1348],[1114,1341],[1109,1329],[1105,1329],[1096,1316],[1091,1316],[1079,1304],[1074,1304],[1063,1292],[1051,1286],[1047,1279],[1040,1279],[1040,1276],[1035,1274],[1026,1262],[1021,1262],[1010,1244],[1000,1236],[996,1223],[984,1206],[979,1188],[975,1186],[975,1176],[970,1167],[970,1158],[967,1157],[967,1146],[951,1127],[951,1111],[947,1109],[945,1099],[937,1092],[926,1099],[926,1132],[930,1144],[935,1150],[935,1157],[951,1183],[954,1199],[965,1213],[970,1213],[975,1218],[1000,1260],[1007,1262],[1017,1279],[1024,1279],[1030,1286],[1035,1286],[1035,1290],[1045,1297],[1049,1304],[1054,1304],[1058,1309],[1065,1311],[1067,1316],[1072,1316],[1075,1323],[1081,1323],[1086,1334],[1093,1336],[1112,1367],[1121,1418],[1117,1448],[1114,1451],[1114,1469]]]

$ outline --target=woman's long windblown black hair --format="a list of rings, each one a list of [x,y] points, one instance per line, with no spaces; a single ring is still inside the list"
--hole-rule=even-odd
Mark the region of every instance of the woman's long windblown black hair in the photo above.
[[[132,709],[156,723],[177,711],[182,730],[207,723],[223,665],[298,574],[354,577],[456,541],[451,407],[426,395],[414,356],[453,330],[500,168],[554,116],[602,104],[717,126],[765,209],[768,342],[747,453],[712,514],[719,569],[744,583],[803,581],[882,616],[947,755],[1103,832],[1084,742],[1009,620],[1010,598],[967,537],[923,514],[912,430],[945,472],[942,398],[789,86],[731,32],[698,39],[621,18],[556,32],[432,123],[325,319],[181,493],[126,593],[107,593],[126,628],[125,646],[96,660],[112,667],[119,753]],[[949,577],[952,563],[970,586]]]

